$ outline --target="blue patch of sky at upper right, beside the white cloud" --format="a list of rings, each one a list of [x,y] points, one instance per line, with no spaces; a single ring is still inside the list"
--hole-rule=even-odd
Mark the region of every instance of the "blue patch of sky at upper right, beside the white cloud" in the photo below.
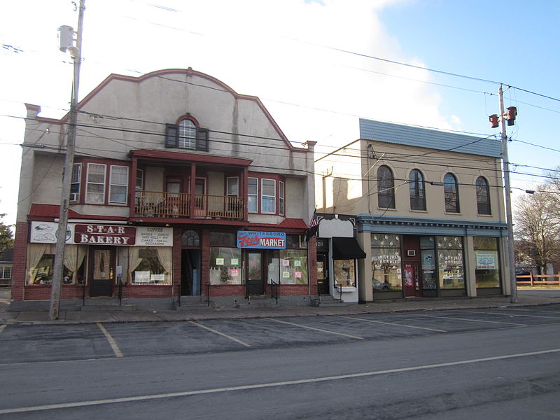
[[[505,107],[518,109],[516,125],[507,127],[507,135],[513,139],[508,147],[510,162],[551,169],[560,165],[558,152],[521,143],[560,149],[555,127],[560,102],[507,90],[507,85],[512,85],[560,99],[560,1],[405,1],[384,8],[379,18],[398,39],[402,52],[419,57],[426,67],[505,84]],[[494,94],[497,91],[491,83],[457,77],[435,75],[433,81]],[[440,92],[440,110],[459,115],[464,130],[493,132],[486,116],[499,113],[497,97],[448,87]],[[535,168],[512,169],[542,173]],[[512,174],[512,180],[542,181],[519,174]]]

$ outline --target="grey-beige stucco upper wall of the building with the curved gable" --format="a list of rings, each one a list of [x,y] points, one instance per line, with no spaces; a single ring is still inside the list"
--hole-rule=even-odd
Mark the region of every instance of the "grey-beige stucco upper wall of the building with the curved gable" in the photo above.
[[[309,220],[314,209],[312,145],[304,148],[289,144],[255,97],[237,94],[210,76],[186,70],[138,79],[114,76],[100,87],[78,105],[76,158],[94,155],[129,162],[131,149],[153,149],[250,160],[250,172],[286,177],[286,217]],[[18,221],[27,221],[31,202],[60,201],[64,155],[57,149],[64,150],[68,127],[63,120],[37,119],[37,111],[38,107],[28,106],[25,144],[42,148],[24,148]],[[208,152],[165,148],[165,124],[175,124],[187,113],[200,127],[211,130]],[[38,151],[44,157],[38,158]],[[209,174],[210,194],[223,195],[223,181],[221,186],[214,183],[223,177],[217,172]],[[163,178],[162,168],[146,169],[146,190],[161,191]],[[36,188],[38,184],[45,188]],[[121,210],[123,214],[130,211]],[[99,206],[92,211],[104,213]],[[276,216],[261,218],[263,223],[273,224],[283,220]]]

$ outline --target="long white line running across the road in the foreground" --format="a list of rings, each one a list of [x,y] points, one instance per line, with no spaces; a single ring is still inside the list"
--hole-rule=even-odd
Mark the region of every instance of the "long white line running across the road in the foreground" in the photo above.
[[[273,387],[277,387],[277,386],[314,384],[314,383],[317,383],[317,382],[339,381],[341,379],[353,379],[353,378],[362,378],[362,377],[373,377],[373,376],[379,376],[379,375],[383,375],[383,374],[413,372],[413,371],[416,371],[416,370],[428,370],[428,369],[435,369],[435,368],[438,368],[438,367],[470,365],[470,364],[473,364],[473,363],[492,362],[492,361],[495,361],[495,360],[506,360],[506,359],[512,359],[512,358],[528,357],[528,356],[540,356],[542,354],[552,354],[552,353],[560,353],[560,349],[528,351],[527,353],[514,353],[514,354],[505,354],[503,356],[491,356],[491,357],[476,358],[476,359],[470,359],[470,360],[457,360],[457,361],[454,361],[454,362],[435,363],[435,364],[432,364],[432,365],[397,367],[395,369],[373,370],[371,372],[339,374],[339,375],[330,376],[330,377],[295,379],[293,381],[267,382],[267,383],[264,383],[264,384],[226,386],[226,387],[223,387],[223,388],[209,388],[209,389],[199,389],[199,390],[195,390],[195,391],[181,391],[181,392],[152,394],[152,395],[137,395],[135,397],[110,398],[110,399],[106,399],[106,400],[64,402],[64,403],[59,403],[59,404],[8,408],[8,409],[0,409],[0,414],[15,414],[15,413],[34,412],[34,411],[45,411],[45,410],[48,410],[48,409],[64,409],[64,408],[75,408],[75,407],[88,407],[88,406],[92,406],[92,405],[115,404],[115,403],[118,403],[118,402],[136,402],[136,401],[146,401],[146,400],[158,400],[158,399],[162,399],[162,398],[188,397],[188,396],[191,396],[191,395],[204,395],[204,394],[232,392],[232,391],[247,391],[247,390],[251,390],[251,389],[273,388]]]

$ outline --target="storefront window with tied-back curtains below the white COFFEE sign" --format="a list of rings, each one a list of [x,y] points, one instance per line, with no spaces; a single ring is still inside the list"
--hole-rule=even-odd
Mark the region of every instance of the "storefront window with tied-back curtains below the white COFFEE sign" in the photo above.
[[[172,248],[169,246],[131,246],[129,253],[132,284],[170,286]]]

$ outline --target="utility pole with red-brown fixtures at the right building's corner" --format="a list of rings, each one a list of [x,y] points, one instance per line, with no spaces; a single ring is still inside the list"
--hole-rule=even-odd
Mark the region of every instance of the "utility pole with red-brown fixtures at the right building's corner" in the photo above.
[[[500,88],[498,89],[498,98],[500,99],[500,130],[502,134],[502,158],[503,158],[503,185],[505,188],[505,221],[507,223],[507,260],[510,265],[510,286],[511,295],[510,302],[517,302],[517,279],[515,278],[515,252],[513,248],[513,221],[512,221],[512,197],[510,188],[510,160],[507,158],[507,135],[505,134],[505,118],[503,109],[503,89],[500,83]],[[510,109],[507,109],[509,112]],[[514,120],[514,115],[512,120],[510,120],[510,115],[507,117],[508,123]]]

